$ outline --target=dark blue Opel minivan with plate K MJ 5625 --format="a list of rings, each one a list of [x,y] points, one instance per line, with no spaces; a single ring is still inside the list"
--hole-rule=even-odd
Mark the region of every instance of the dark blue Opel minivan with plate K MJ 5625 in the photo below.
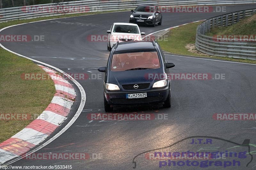
[[[164,54],[156,41],[129,41],[116,43],[110,51],[105,72],[105,111],[114,106],[163,104],[171,107],[171,82]]]

